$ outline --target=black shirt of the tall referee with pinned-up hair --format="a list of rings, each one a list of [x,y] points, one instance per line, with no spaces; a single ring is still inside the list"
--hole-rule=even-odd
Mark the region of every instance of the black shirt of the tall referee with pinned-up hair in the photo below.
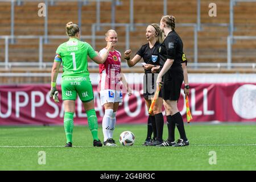
[[[173,59],[174,63],[172,67],[181,66],[183,56],[183,42],[177,33],[172,30],[164,39],[164,42],[160,44],[159,57],[160,65],[163,67],[167,59]]]

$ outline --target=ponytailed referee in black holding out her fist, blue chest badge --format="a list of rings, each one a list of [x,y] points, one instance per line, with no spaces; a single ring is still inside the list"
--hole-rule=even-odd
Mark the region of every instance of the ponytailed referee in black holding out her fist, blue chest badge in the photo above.
[[[129,67],[133,67],[137,64],[141,59],[143,59],[144,64],[144,72],[145,75],[143,77],[143,96],[146,101],[147,110],[151,105],[152,98],[154,97],[154,93],[156,90],[155,80],[156,76],[151,72],[153,67],[160,67],[159,63],[159,47],[160,42],[163,41],[163,32],[160,30],[160,27],[156,23],[149,24],[146,28],[146,38],[148,40],[147,44],[144,44],[133,59],[130,60],[131,50],[125,51],[125,59],[127,60],[127,64]],[[147,137],[143,145],[147,146],[154,142],[157,137],[157,129],[155,123],[155,114],[162,114],[162,93],[159,92],[159,99],[156,101],[153,113],[148,116],[147,121]],[[153,139],[151,139],[152,133],[154,134]]]

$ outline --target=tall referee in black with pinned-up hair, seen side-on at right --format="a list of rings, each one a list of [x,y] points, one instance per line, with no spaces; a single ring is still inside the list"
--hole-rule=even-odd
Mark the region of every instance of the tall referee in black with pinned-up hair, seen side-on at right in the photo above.
[[[179,110],[177,109],[177,101],[180,96],[180,89],[184,80],[183,69],[183,42],[180,36],[175,32],[175,17],[172,15],[163,16],[160,20],[160,28],[164,31],[166,39],[160,45],[159,56],[160,64],[163,65],[156,84],[162,84],[162,96],[164,100],[164,108],[166,109],[166,117],[168,126],[168,136],[174,136],[172,126],[177,126],[180,133],[180,139],[175,143],[174,140],[168,138],[166,142],[158,146],[174,146],[181,147],[189,145],[185,134],[184,123]],[[175,125],[170,125],[175,123]]]

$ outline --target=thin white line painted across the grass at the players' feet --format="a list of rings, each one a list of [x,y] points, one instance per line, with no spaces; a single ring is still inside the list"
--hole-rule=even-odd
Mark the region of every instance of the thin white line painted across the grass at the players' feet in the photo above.
[[[256,146],[256,144],[191,144],[189,146],[225,147],[225,146]],[[189,147],[189,146],[187,146],[187,147]],[[36,147],[63,147],[64,148],[64,146],[0,146],[0,148],[36,148]],[[73,146],[73,147],[76,148],[76,147],[93,147],[93,146]],[[106,147],[106,146],[104,146],[104,147]],[[124,147],[124,146],[108,146],[108,148],[111,148],[111,147]],[[129,146],[126,146],[126,147],[129,147]],[[147,146],[130,146],[130,147],[147,147]],[[162,148],[162,147],[160,147],[160,148]]]

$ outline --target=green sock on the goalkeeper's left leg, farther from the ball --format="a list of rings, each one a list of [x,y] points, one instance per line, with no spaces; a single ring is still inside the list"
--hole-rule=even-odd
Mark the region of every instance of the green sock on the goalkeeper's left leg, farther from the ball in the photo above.
[[[67,138],[67,143],[71,142],[72,143],[72,135],[73,135],[73,115],[74,113],[69,113],[65,112],[64,113],[64,129],[65,129],[65,134]]]

